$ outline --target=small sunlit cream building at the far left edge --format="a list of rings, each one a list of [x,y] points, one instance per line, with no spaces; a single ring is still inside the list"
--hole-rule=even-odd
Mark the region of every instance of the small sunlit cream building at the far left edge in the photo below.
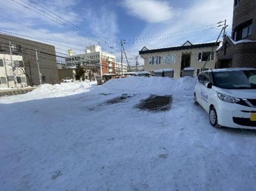
[[[27,80],[23,71],[22,56],[0,54],[0,88],[26,87]]]

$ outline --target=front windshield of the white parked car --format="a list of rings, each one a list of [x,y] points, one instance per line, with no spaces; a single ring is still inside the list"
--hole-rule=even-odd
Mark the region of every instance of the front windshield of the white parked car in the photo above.
[[[213,80],[223,89],[256,89],[256,70],[214,72]]]

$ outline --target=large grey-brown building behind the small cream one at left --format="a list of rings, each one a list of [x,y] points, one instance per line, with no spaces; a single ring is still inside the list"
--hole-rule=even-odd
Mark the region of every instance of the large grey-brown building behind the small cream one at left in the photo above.
[[[10,49],[13,56],[23,57],[28,85],[40,85],[40,79],[42,83],[54,84],[59,82],[54,46],[0,34],[1,53],[10,54]],[[36,50],[39,69],[36,60]]]

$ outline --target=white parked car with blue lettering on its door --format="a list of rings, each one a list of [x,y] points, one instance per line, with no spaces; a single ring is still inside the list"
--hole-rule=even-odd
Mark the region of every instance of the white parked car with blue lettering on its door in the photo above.
[[[201,72],[194,89],[194,103],[208,112],[214,127],[256,129],[256,69]]]

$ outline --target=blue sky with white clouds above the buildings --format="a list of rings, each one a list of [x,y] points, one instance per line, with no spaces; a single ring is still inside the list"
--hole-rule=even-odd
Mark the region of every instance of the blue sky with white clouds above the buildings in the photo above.
[[[121,38],[127,42],[131,42],[129,39],[138,38],[137,43],[125,44],[131,62],[143,46],[159,48],[178,46],[186,40],[191,43],[214,41],[220,28],[214,28],[217,25],[211,24],[227,19],[227,31],[231,30],[232,25],[233,0],[33,1],[78,26],[83,33],[69,30],[19,5],[26,5],[24,2],[27,2],[40,8],[30,0],[5,0],[5,4],[0,5],[1,30],[64,44],[65,47],[56,45],[56,51],[59,52],[67,52],[66,49],[70,47],[77,54],[83,53],[87,45],[100,42],[103,49],[115,53],[117,59],[120,56],[117,42]],[[194,28],[197,29],[192,30]],[[93,40],[88,38],[88,34]],[[141,40],[152,36],[159,37]],[[105,41],[115,48],[105,46]]]

